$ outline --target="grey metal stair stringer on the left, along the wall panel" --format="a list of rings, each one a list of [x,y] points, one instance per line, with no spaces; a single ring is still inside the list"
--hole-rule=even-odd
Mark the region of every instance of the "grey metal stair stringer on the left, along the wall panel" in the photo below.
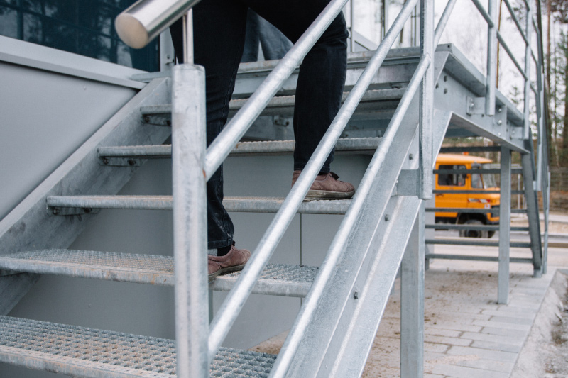
[[[129,182],[139,165],[101,165],[99,146],[163,143],[171,133],[170,128],[146,125],[140,108],[167,104],[170,93],[170,79],[155,79],[147,84],[2,219],[0,255],[69,247],[96,214],[51,216],[46,205],[47,197],[86,192],[116,194]],[[0,272],[0,314],[9,313],[38,277],[38,274]]]

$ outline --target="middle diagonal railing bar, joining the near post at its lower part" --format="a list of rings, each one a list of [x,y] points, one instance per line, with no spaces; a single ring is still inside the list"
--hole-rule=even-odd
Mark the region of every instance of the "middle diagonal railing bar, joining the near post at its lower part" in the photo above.
[[[334,147],[335,143],[339,139],[343,129],[345,128],[347,122],[353,115],[356,106],[361,101],[364,96],[368,85],[371,83],[374,75],[376,74],[378,68],[382,65],[383,61],[388,54],[391,46],[396,40],[396,36],[402,30],[406,20],[410,17],[410,13],[413,10],[413,6],[417,3],[417,0],[410,0],[401,9],[398,17],[395,19],[391,29],[388,31],[387,35],[379,45],[375,52],[375,55],[371,57],[368,62],[367,67],[364,72],[359,77],[357,83],[351,89],[349,96],[344,102],[344,105],[337,113],[334,121],[329,126],[327,132],[325,133],[322,141],[316,148],[314,154],[308,161],[305,169],[300,174],[294,187],[286,197],[282,207],[276,213],[273,221],[263,235],[263,238],[258,243],[253,255],[249,262],[247,262],[241,276],[234,289],[230,292],[229,296],[225,299],[221,308],[217,312],[217,315],[211,324],[211,333],[209,334],[209,358],[214,356],[217,352],[222,341],[229,333],[229,330],[236,320],[236,316],[241,311],[244,306],[244,302],[251,294],[252,288],[261,274],[263,267],[266,265],[270,259],[276,245],[280,242],[283,233],[290,225],[293,216],[300,204],[302,204],[307,191],[315,179],[320,168],[322,167],[324,160],[329,155],[329,152]],[[428,57],[430,60],[430,57]]]

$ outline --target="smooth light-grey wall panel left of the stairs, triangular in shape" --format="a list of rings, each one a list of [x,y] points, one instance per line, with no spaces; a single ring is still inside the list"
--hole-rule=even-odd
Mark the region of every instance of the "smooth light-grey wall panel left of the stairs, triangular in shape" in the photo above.
[[[0,218],[136,94],[0,62]]]

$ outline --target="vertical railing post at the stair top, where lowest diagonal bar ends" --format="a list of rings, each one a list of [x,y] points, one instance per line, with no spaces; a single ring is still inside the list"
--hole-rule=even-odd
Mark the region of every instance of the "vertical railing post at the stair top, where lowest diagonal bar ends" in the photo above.
[[[434,3],[420,1],[420,55],[430,55],[432,62],[420,86],[418,198],[432,198],[432,114],[434,108]]]

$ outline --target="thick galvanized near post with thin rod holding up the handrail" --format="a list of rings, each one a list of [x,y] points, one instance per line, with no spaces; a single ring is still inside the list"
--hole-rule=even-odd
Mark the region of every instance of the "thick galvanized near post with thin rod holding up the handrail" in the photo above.
[[[172,174],[177,375],[209,377],[205,71],[192,65],[191,15],[185,64],[173,68]],[[190,33],[187,33],[189,30]]]

